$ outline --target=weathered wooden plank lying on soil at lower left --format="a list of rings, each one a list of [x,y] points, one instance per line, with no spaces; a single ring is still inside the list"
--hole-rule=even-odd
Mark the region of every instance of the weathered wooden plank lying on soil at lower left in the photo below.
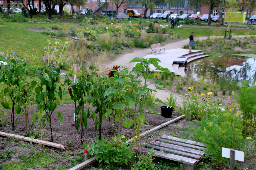
[[[53,143],[53,142],[47,142],[47,141],[43,141],[43,140],[39,140],[39,139],[30,139],[28,137],[24,137],[24,136],[20,136],[20,135],[15,135],[15,134],[11,134],[11,133],[5,133],[5,132],[1,132],[0,131],[0,135],[1,136],[5,136],[5,137],[10,137],[10,138],[15,138],[15,139],[19,139],[22,141],[28,141],[28,142],[33,142],[33,143],[39,143],[42,145],[47,145],[47,146],[51,146],[51,147],[55,147],[55,148],[60,148],[60,149],[64,149],[65,147],[61,144],[58,143]]]

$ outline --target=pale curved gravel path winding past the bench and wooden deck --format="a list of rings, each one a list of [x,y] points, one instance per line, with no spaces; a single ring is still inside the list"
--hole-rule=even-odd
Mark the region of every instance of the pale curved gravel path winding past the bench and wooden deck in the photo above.
[[[243,37],[248,37],[251,35],[234,35],[232,36],[233,38],[243,38]],[[253,35],[255,36],[255,35]],[[210,39],[212,38],[219,38],[220,36],[211,36]],[[207,40],[208,37],[194,37],[194,40]],[[223,36],[221,36],[221,38],[223,38]],[[184,45],[187,45],[189,43],[189,39],[185,39],[185,40],[181,40],[175,43],[169,43],[169,44],[165,44],[166,49],[165,50],[169,50],[169,49],[175,49],[175,48],[183,48]],[[129,68],[129,70],[132,70],[132,68],[134,67],[134,63],[129,63],[134,57],[144,57],[147,56],[148,54],[151,53],[151,48],[147,48],[147,49],[138,49],[135,50],[132,53],[126,53],[123,54],[122,56],[120,56],[119,58],[115,59],[114,61],[112,61],[109,65],[107,65],[107,67],[109,68],[113,68],[113,65],[122,65],[122,66],[126,66],[127,68]],[[154,89],[154,85],[152,84],[150,86],[150,88]],[[173,87],[174,88],[174,87]],[[178,96],[179,94],[177,94]],[[155,98],[159,98],[161,100],[166,100],[166,97],[170,98],[170,90],[157,90],[157,93],[155,95]]]

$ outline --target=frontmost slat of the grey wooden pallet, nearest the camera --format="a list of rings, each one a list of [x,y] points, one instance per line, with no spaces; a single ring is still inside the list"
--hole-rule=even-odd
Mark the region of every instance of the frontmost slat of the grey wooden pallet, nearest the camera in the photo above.
[[[149,148],[139,148],[139,150],[144,153],[147,153],[148,151],[153,151],[152,149],[149,149]],[[177,162],[180,162],[182,159],[184,164],[189,164],[192,166],[194,166],[197,163],[196,159],[186,158],[184,156],[179,156],[174,154],[168,154],[168,153],[160,152],[156,150],[154,150],[154,155],[160,158],[165,158],[165,159],[169,159]]]

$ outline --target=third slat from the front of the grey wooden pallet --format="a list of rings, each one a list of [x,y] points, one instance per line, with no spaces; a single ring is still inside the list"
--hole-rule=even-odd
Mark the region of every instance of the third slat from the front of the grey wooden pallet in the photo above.
[[[195,150],[195,149],[191,149],[191,148],[187,148],[187,147],[183,147],[183,146],[172,145],[172,144],[165,143],[165,142],[160,142],[160,141],[157,141],[156,143],[157,143],[157,146],[159,146],[159,147],[169,148],[169,149],[173,149],[173,150],[176,150],[176,151],[187,152],[189,154],[194,154],[194,155],[199,155],[199,156],[203,156],[205,154],[205,152]],[[156,145],[156,143],[150,142],[149,144]]]

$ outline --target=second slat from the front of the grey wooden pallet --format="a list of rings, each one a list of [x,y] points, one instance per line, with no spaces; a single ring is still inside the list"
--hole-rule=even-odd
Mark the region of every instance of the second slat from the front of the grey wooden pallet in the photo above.
[[[145,147],[154,148],[154,150],[157,150],[157,151],[163,150],[164,152],[168,152],[168,153],[171,152],[171,154],[174,154],[174,155],[179,155],[179,156],[184,156],[184,157],[191,158],[191,159],[196,159],[196,160],[198,160],[198,162],[202,159],[202,156],[200,156],[200,155],[189,154],[186,152],[176,151],[176,150],[169,149],[169,148],[163,148],[163,147],[159,147],[157,145],[147,145],[147,146],[145,145]]]

